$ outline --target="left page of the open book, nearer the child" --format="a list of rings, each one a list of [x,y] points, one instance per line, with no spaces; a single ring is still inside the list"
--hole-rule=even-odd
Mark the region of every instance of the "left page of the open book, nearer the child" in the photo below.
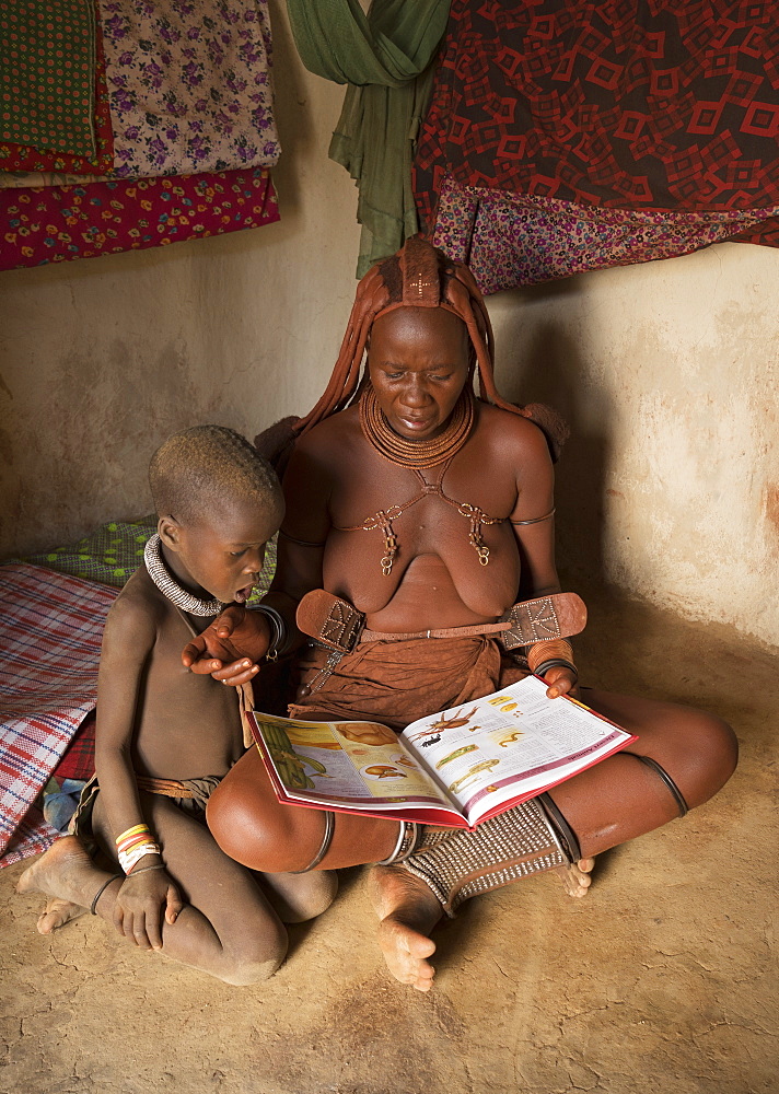
[[[451,803],[408,753],[398,735],[379,722],[305,722],[253,711],[286,796],[345,807],[394,807]]]

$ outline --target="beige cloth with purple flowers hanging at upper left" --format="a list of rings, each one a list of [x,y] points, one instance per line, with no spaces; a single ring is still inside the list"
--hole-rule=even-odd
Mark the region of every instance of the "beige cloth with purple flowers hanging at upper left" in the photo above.
[[[103,0],[121,178],[272,166],[267,0]]]

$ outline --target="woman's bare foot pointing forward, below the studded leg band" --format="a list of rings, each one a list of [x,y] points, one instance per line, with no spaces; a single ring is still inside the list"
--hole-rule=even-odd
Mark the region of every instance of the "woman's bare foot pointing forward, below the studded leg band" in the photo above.
[[[441,918],[441,905],[425,882],[403,868],[374,866],[369,886],[387,968],[400,984],[429,991],[435,975],[427,959],[435,952],[429,934]]]

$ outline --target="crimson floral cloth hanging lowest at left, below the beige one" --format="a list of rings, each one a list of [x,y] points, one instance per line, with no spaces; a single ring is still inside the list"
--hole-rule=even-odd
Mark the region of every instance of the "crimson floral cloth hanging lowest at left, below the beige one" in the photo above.
[[[0,269],[164,246],[278,219],[264,167],[0,190]]]

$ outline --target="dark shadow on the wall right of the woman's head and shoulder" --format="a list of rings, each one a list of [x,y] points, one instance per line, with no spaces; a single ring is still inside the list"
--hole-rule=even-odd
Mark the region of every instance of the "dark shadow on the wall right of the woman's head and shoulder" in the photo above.
[[[548,300],[573,291],[569,282],[539,286]],[[568,422],[570,438],[555,467],[557,559],[567,578],[603,584],[606,480],[614,420],[612,396],[586,377],[584,406],[583,359],[575,341],[554,323],[528,327],[528,309],[536,290],[512,294],[515,306],[500,317],[497,338],[500,365],[498,388],[515,403],[547,403]],[[509,352],[500,347],[515,347]],[[596,407],[594,416],[590,408]]]

